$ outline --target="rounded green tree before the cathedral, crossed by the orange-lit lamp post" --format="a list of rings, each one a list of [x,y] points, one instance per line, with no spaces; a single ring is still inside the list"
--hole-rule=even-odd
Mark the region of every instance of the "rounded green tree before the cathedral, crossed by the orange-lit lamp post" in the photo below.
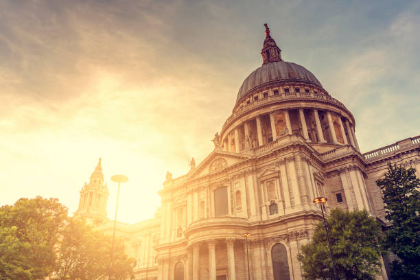
[[[327,224],[338,279],[375,279],[381,266],[382,236],[376,220],[366,210],[333,209]],[[312,240],[302,246],[298,259],[305,279],[334,279],[323,222],[316,226]]]

